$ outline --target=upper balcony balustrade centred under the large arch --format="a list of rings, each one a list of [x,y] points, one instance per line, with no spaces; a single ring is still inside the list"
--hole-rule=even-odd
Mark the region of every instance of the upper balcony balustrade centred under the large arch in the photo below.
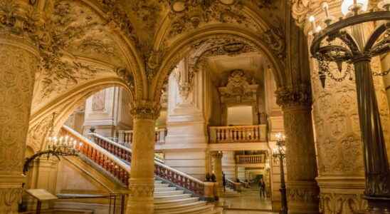
[[[266,125],[211,126],[210,143],[251,143],[266,141]]]

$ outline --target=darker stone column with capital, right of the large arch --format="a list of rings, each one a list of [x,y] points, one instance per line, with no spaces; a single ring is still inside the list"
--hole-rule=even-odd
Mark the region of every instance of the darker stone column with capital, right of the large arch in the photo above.
[[[319,213],[310,86],[279,88],[286,136],[288,213]]]

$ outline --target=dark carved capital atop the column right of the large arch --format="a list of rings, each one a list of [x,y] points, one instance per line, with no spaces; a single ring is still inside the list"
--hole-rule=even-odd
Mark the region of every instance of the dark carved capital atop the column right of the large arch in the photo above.
[[[275,95],[276,103],[283,109],[297,106],[310,107],[312,105],[312,92],[310,86],[306,84],[278,88]]]

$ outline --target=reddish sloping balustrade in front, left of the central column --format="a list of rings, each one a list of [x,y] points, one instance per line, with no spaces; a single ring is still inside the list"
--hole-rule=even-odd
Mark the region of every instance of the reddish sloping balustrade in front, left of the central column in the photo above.
[[[63,126],[60,131],[60,135],[68,135],[77,141],[81,142],[76,145],[80,154],[86,156],[88,159],[100,165],[111,175],[115,176],[125,185],[129,185],[130,178],[130,165],[124,163],[120,158],[117,158],[112,153],[106,151],[104,148],[97,146],[96,143],[93,143],[88,138],[80,135],[80,133],[73,131],[68,126]]]

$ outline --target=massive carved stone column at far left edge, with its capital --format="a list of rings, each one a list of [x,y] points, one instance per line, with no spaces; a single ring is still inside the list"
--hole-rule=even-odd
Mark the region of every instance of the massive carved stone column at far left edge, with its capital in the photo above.
[[[18,213],[38,52],[26,26],[26,2],[0,1],[0,213]],[[28,31],[24,31],[28,30]],[[28,33],[27,33],[28,32]]]

